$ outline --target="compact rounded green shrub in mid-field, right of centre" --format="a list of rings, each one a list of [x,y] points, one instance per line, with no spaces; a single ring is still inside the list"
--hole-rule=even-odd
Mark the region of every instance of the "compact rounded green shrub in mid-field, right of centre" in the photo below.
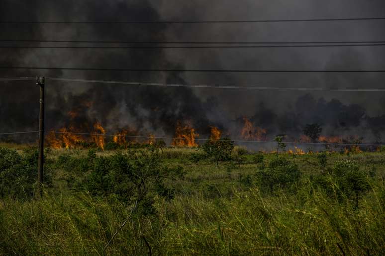
[[[273,192],[276,187],[287,188],[298,182],[301,172],[296,164],[284,158],[277,158],[273,159],[266,169],[259,170],[257,178],[261,188]]]

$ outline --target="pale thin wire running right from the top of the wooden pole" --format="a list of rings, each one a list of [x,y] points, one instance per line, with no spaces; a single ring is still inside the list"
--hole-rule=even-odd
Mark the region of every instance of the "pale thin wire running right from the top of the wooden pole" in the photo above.
[[[341,91],[341,92],[385,92],[385,89],[333,89],[333,88],[288,88],[288,87],[256,87],[256,86],[222,86],[222,85],[197,85],[197,84],[167,84],[167,83],[142,83],[125,81],[106,81],[106,80],[86,80],[71,78],[46,77],[46,80],[82,82],[82,83],[105,83],[105,84],[124,84],[137,86],[160,86],[160,87],[193,87],[193,88],[215,88],[215,89],[252,89],[252,90],[277,90],[277,91]]]

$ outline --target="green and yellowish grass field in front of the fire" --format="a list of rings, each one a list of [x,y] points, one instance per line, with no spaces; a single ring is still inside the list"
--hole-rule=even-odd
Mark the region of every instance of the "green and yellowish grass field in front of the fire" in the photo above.
[[[26,154],[24,147],[12,147]],[[116,159],[130,162],[143,151],[122,150],[124,158]],[[116,175],[104,170],[115,168],[115,160],[104,162],[117,152],[97,151],[90,160],[88,150],[48,150],[50,182],[43,195],[2,198],[0,254],[385,254],[385,153],[243,151],[236,148],[231,159],[217,164],[196,149],[163,149],[159,168],[182,167],[184,175],[164,180],[167,194],[149,189],[151,204],[135,207],[114,190],[87,189],[94,188],[90,179],[96,172],[107,172],[104,178]],[[277,169],[274,163],[285,164]],[[271,175],[275,170],[282,175]],[[15,177],[14,182],[20,185],[14,190],[22,191],[22,181]]]

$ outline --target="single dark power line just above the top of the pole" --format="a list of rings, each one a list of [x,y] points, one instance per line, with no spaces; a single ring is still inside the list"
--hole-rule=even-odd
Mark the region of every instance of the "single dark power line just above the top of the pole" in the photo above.
[[[372,70],[295,70],[295,69],[147,69],[147,68],[82,68],[82,67],[37,67],[37,66],[0,66],[0,69],[32,69],[32,70],[78,70],[78,71],[147,71],[147,72],[239,72],[239,73],[384,73],[385,69]]]

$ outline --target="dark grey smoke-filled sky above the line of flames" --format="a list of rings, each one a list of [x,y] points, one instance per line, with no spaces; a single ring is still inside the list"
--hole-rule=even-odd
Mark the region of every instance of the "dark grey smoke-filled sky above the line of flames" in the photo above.
[[[1,0],[1,21],[258,20],[383,17],[384,0]],[[221,24],[0,24],[0,39],[120,41],[385,41],[385,20]],[[15,45],[3,43],[2,45]],[[18,45],[53,46],[52,43]],[[56,44],[66,46],[68,44]],[[84,44],[78,44],[83,46]],[[385,47],[261,49],[0,49],[0,66],[175,69],[385,69]],[[49,76],[210,85],[385,88],[382,73],[155,73],[1,69],[0,77]],[[48,81],[46,127],[99,121],[173,135],[178,121],[201,137],[218,126],[232,137],[242,117],[268,136],[323,135],[385,142],[385,93],[158,88]],[[71,118],[69,112],[77,112]],[[0,132],[35,130],[38,88],[0,86]]]

